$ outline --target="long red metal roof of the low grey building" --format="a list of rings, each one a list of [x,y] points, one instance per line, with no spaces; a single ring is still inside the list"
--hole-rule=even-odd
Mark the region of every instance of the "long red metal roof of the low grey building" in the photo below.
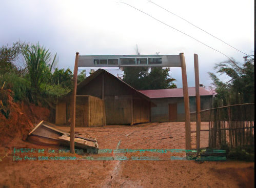
[[[183,97],[183,88],[163,89],[163,90],[141,90],[141,93],[149,98],[170,98]],[[199,88],[200,96],[213,95],[213,90],[207,90],[204,87]],[[195,87],[188,88],[188,96],[195,96]]]

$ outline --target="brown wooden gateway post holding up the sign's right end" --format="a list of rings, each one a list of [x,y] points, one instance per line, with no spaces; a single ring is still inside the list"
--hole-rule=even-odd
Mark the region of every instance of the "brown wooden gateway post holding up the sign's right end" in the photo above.
[[[180,53],[180,58],[181,58],[182,85],[183,85],[184,109],[185,109],[186,150],[190,150],[191,149],[190,111],[189,111],[189,96],[188,96],[188,80],[187,80],[187,71],[186,71],[184,53]]]

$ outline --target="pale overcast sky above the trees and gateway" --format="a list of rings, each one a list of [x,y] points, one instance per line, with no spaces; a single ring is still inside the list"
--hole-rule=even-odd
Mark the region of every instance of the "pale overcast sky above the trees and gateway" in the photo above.
[[[244,54],[189,25],[147,0],[123,0],[214,48],[243,62]],[[224,40],[246,54],[254,54],[253,0],[152,0],[170,12]],[[0,1],[0,46],[18,39],[38,41],[54,55],[58,68],[74,69],[75,53],[80,55],[133,55],[136,45],[142,55],[185,55],[189,87],[194,87],[193,54],[199,55],[200,83],[210,86],[207,72],[228,58],[198,41],[160,23],[120,0]],[[116,68],[117,69],[117,68]],[[90,69],[89,69],[90,70]],[[89,73],[87,70],[87,73]],[[109,69],[108,69],[109,70]],[[122,74],[121,71],[110,70]],[[181,68],[170,72],[182,87]]]

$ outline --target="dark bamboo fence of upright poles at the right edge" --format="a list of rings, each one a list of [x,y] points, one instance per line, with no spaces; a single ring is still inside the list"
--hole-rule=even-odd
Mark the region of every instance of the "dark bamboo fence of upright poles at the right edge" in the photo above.
[[[209,148],[254,145],[254,103],[201,111],[209,117]]]

